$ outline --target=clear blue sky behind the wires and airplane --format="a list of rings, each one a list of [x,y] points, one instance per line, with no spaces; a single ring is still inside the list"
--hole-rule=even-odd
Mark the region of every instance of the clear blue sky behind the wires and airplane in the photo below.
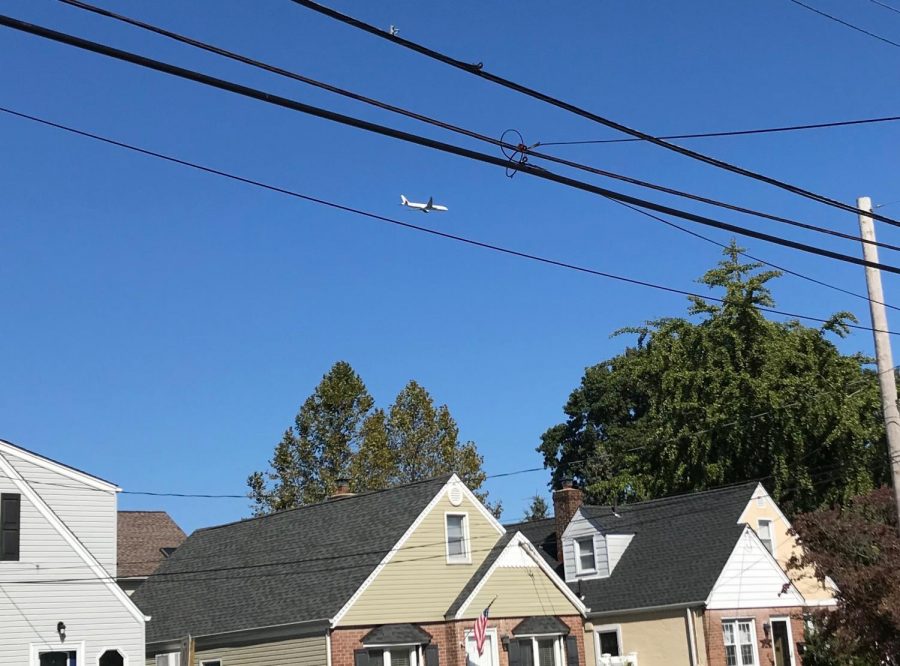
[[[100,0],[98,0],[100,2]],[[287,0],[105,2],[143,20],[492,136],[529,143],[612,132],[330,22]],[[886,36],[900,16],[815,0]],[[787,0],[332,5],[492,72],[660,134],[897,115],[900,50]],[[56,29],[459,142],[429,128],[54,2],[4,12]],[[595,196],[336,126],[0,29],[0,105],[386,215],[680,288],[718,251]],[[900,199],[900,124],[689,145],[847,202]],[[610,333],[684,311],[631,287],[366,221],[0,117],[0,437],[126,490],[242,493],[300,402],[339,359],[382,405],[411,378],[449,405],[488,473],[540,465],[584,368]],[[688,144],[686,144],[688,145]],[[557,154],[856,232],[853,215],[652,146]],[[613,189],[632,191],[620,185]],[[444,216],[399,195],[447,204]],[[685,208],[691,206],[681,204]],[[900,216],[900,204],[886,207]],[[858,254],[853,243],[723,219]],[[728,236],[699,229],[720,241]],[[882,225],[882,240],[900,242]],[[861,269],[760,242],[775,263],[864,291]],[[896,257],[883,254],[886,261]],[[897,280],[885,278],[893,300]],[[868,321],[866,304],[785,277],[779,306]],[[846,351],[871,352],[856,332]],[[547,474],[488,482],[504,519]],[[188,531],[243,500],[123,496]]]

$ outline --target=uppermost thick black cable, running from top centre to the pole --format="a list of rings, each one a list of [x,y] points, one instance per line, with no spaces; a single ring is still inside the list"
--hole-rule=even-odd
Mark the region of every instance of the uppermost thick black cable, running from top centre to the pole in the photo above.
[[[792,0],[794,1],[794,0]],[[582,118],[586,118],[593,122],[599,123],[611,129],[617,130],[619,132],[623,132],[625,134],[629,134],[635,138],[642,139],[649,143],[653,143],[661,148],[665,148],[667,150],[671,150],[676,153],[680,153],[686,157],[690,157],[695,160],[699,160],[701,162],[705,162],[706,164],[710,164],[712,166],[718,167],[720,169],[725,169],[726,171],[730,171],[732,173],[736,173],[742,176],[746,176],[748,178],[753,178],[754,180],[758,180],[774,187],[778,187],[783,190],[787,190],[793,194],[805,197],[807,199],[811,199],[813,201],[818,201],[819,203],[823,203],[835,208],[839,208],[841,210],[855,213],[857,215],[863,214],[863,211],[860,211],[856,206],[851,206],[849,204],[845,204],[842,201],[838,201],[836,199],[831,199],[822,194],[817,194],[815,192],[811,192],[809,190],[803,189],[799,186],[792,185],[791,183],[787,183],[782,180],[778,180],[777,178],[773,178],[771,176],[766,176],[765,174],[761,174],[755,171],[751,171],[749,169],[745,169],[743,167],[739,167],[737,165],[731,164],[729,162],[725,162],[723,160],[717,159],[715,157],[711,157],[709,155],[705,155],[703,153],[699,153],[697,151],[691,150],[689,148],[685,148],[683,146],[679,146],[672,143],[667,143],[663,139],[647,134],[646,132],[642,132],[640,130],[636,130],[631,127],[627,127],[619,122],[611,120],[609,118],[605,118],[603,116],[597,115],[591,111],[587,111],[586,109],[582,109],[574,104],[569,102],[565,102],[561,99],[552,97],[546,93],[542,93],[533,88],[529,88],[523,84],[516,83],[515,81],[511,81],[509,79],[503,78],[496,74],[492,74],[490,72],[485,71],[482,63],[478,64],[470,64],[463,62],[461,60],[457,60],[452,58],[446,54],[440,53],[439,51],[435,51],[434,49],[430,49],[426,46],[423,46],[417,42],[410,41],[408,39],[404,39],[399,35],[387,33],[376,26],[373,26],[369,23],[361,21],[357,18],[349,16],[347,14],[343,14],[329,7],[325,7],[324,5],[320,5],[317,2],[313,2],[312,0],[292,0],[298,5],[306,7],[307,9],[311,9],[319,14],[323,14],[324,16],[328,16],[329,18],[335,19],[347,25],[350,25],[354,28],[358,28],[359,30],[363,30],[364,32],[368,32],[371,35],[375,35],[376,37],[380,37],[381,39],[385,39],[391,43],[398,44],[399,46],[403,46],[411,51],[415,51],[421,55],[424,55],[433,60],[437,60],[446,65],[450,65],[451,67],[455,67],[464,72],[468,72],[469,74],[474,74],[475,76],[481,77],[487,81],[492,83],[496,83],[497,85],[503,86],[504,88],[508,88],[510,90],[514,90],[523,95],[527,95],[534,99],[540,100],[547,104],[551,104],[565,111],[569,111],[570,113],[574,113],[575,115],[581,116]],[[885,216],[872,216],[873,219],[880,220],[882,222],[886,222],[887,224],[891,224],[894,226],[900,227],[900,221],[895,220],[890,217]]]

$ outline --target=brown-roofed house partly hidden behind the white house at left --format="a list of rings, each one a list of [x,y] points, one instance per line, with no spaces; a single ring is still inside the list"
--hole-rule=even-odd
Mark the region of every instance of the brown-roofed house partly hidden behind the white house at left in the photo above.
[[[187,538],[165,511],[119,511],[117,580],[129,596]]]

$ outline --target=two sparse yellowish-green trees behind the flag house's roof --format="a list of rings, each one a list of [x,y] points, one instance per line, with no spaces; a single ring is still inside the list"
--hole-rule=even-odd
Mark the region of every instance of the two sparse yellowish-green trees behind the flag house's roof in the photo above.
[[[270,469],[247,483],[257,514],[320,502],[347,478],[354,492],[456,472],[483,501],[474,442],[460,442],[446,405],[410,381],[385,412],[348,363],[336,363],[275,447]],[[499,515],[500,507],[489,507]]]

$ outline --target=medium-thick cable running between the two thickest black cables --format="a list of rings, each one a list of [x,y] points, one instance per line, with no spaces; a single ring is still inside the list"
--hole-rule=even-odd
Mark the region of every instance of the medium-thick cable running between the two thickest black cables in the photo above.
[[[537,152],[537,151],[533,150],[534,147],[536,147],[537,145],[540,145],[540,144],[535,144],[534,146],[531,146],[531,147],[523,147],[523,146],[516,146],[516,145],[513,145],[513,144],[509,144],[509,143],[504,142],[502,139],[501,139],[501,140],[497,140],[497,139],[495,139],[495,138],[493,138],[493,137],[485,136],[484,134],[480,134],[480,133],[478,133],[478,132],[474,132],[474,131],[472,131],[472,130],[465,129],[465,128],[459,127],[459,126],[457,126],[457,125],[453,125],[453,124],[450,124],[450,123],[447,123],[447,122],[444,122],[444,121],[441,121],[441,120],[437,120],[437,119],[432,118],[432,117],[429,117],[429,116],[425,116],[425,115],[422,115],[422,114],[419,114],[419,113],[415,113],[415,112],[410,111],[410,110],[408,110],[408,109],[404,109],[404,108],[402,108],[402,107],[398,107],[398,106],[395,106],[395,105],[393,105],[393,104],[388,104],[388,103],[386,103],[386,102],[383,102],[383,101],[380,101],[380,100],[376,100],[376,99],[373,99],[373,98],[371,98],[371,97],[366,97],[365,95],[361,95],[361,94],[359,94],[359,93],[355,93],[355,92],[346,90],[346,89],[344,89],[344,88],[339,88],[339,87],[337,87],[337,86],[333,86],[333,85],[331,85],[331,84],[324,83],[324,82],[318,81],[318,80],[316,80],[316,79],[312,79],[312,78],[310,78],[310,77],[308,77],[308,76],[304,76],[304,75],[302,75],[302,74],[298,74],[298,73],[296,73],[296,72],[293,72],[293,71],[290,71],[290,70],[286,70],[286,69],[284,69],[284,68],[277,67],[277,66],[271,65],[271,64],[269,64],[269,63],[265,63],[265,62],[261,62],[261,61],[259,61],[259,60],[255,60],[255,59],[253,59],[253,58],[249,58],[249,57],[247,57],[247,56],[241,55],[241,54],[239,54],[239,53],[235,53],[235,52],[233,52],[233,51],[228,51],[228,50],[223,49],[223,48],[221,48],[221,47],[214,46],[214,45],[212,45],[212,44],[208,44],[208,43],[206,43],[206,42],[199,41],[199,40],[194,39],[194,38],[192,38],[192,37],[187,37],[187,36],[185,36],[185,35],[181,35],[181,34],[178,34],[178,33],[176,33],[176,32],[172,32],[172,31],[170,31],[170,30],[166,30],[166,29],[164,29],[164,28],[160,28],[159,26],[156,26],[156,25],[153,25],[153,24],[150,24],[150,23],[146,23],[146,22],[144,22],[144,21],[140,21],[140,20],[138,20],[138,19],[131,18],[131,17],[129,17],[129,16],[125,16],[125,15],[123,15],[123,14],[117,14],[117,13],[115,13],[115,12],[111,12],[111,11],[109,11],[109,10],[107,10],[107,9],[102,8],[102,7],[96,7],[96,6],[94,6],[94,5],[91,5],[91,4],[88,4],[88,3],[86,3],[86,2],[83,2],[82,0],[60,0],[60,2],[63,2],[63,3],[65,3],[65,4],[68,4],[68,5],[72,6],[72,7],[76,7],[76,8],[78,8],[78,9],[82,9],[82,10],[85,10],[85,11],[88,11],[88,12],[91,12],[91,13],[94,13],[94,14],[98,14],[98,15],[100,15],[100,16],[104,16],[104,17],[107,17],[107,18],[114,19],[114,20],[116,20],[116,21],[123,22],[123,23],[125,23],[125,24],[127,24],[127,25],[134,26],[134,27],[140,28],[140,29],[142,29],[142,30],[146,30],[146,31],[151,32],[151,33],[153,33],[153,34],[161,35],[161,36],[166,37],[166,38],[168,38],[168,39],[172,39],[172,40],[174,40],[174,41],[177,41],[177,42],[179,42],[179,43],[187,44],[187,45],[192,46],[192,47],[194,47],[194,48],[197,48],[197,49],[200,49],[200,50],[203,50],[203,51],[207,51],[207,52],[209,52],[209,53],[214,53],[214,54],[216,54],[216,55],[219,55],[219,56],[228,58],[228,59],[230,59],[230,60],[234,60],[234,61],[236,61],[236,62],[240,62],[240,63],[242,63],[242,64],[249,65],[249,66],[251,66],[251,67],[255,67],[255,68],[257,68],[257,69],[261,69],[261,70],[266,71],[266,72],[270,72],[270,73],[273,73],[273,74],[277,74],[277,75],[279,75],[279,76],[283,76],[283,77],[285,77],[285,78],[289,78],[289,79],[294,80],[294,81],[299,81],[299,82],[301,82],[301,83],[304,83],[304,84],[307,84],[307,85],[310,85],[310,86],[313,86],[313,87],[316,87],[316,88],[319,88],[319,89],[322,89],[322,90],[327,90],[328,92],[334,93],[334,94],[336,94],[336,95],[341,95],[342,97],[346,97],[346,98],[349,98],[349,99],[352,99],[352,100],[355,100],[355,101],[358,101],[358,102],[362,102],[362,103],[364,103],[364,104],[368,104],[368,105],[370,105],[370,106],[374,106],[374,107],[376,107],[376,108],[379,108],[379,109],[382,109],[382,110],[385,110],[385,111],[390,111],[391,113],[396,113],[396,114],[402,115],[402,116],[404,116],[404,117],[406,117],[406,118],[412,118],[412,119],[417,120],[417,121],[419,121],[419,122],[427,123],[427,124],[429,124],[429,125],[432,125],[432,126],[435,126],[435,127],[439,127],[439,128],[441,128],[441,129],[444,129],[444,130],[448,130],[448,131],[451,131],[451,132],[456,132],[456,133],[461,134],[461,135],[463,135],[463,136],[467,136],[467,137],[470,137],[470,138],[473,138],[473,139],[477,139],[477,140],[479,140],[479,141],[486,142],[486,143],[489,143],[489,144],[491,144],[491,145],[493,145],[493,146],[498,146],[498,147],[500,147],[501,149],[505,149],[505,150],[509,150],[509,151],[515,151],[515,152],[519,152],[519,150],[521,149],[521,150],[524,150],[524,154],[527,154],[527,156],[528,156],[529,158],[531,158],[531,157],[536,157],[536,158],[538,158],[538,159],[544,159],[544,160],[547,160],[547,161],[550,161],[550,162],[554,162],[554,163],[557,163],[557,164],[562,164],[562,165],[564,165],[564,166],[572,167],[572,168],[575,168],[575,169],[579,169],[579,170],[582,170],[582,171],[586,171],[586,172],[589,172],[589,173],[593,173],[593,174],[596,174],[596,175],[599,175],[599,176],[603,176],[603,177],[606,177],[606,178],[612,178],[612,179],[619,180],[619,181],[622,181],[622,182],[626,182],[626,183],[629,183],[629,184],[632,184],[632,185],[637,185],[637,186],[639,186],[639,187],[644,187],[644,188],[652,189],[652,190],[654,190],[654,191],[663,192],[663,193],[665,193],[665,194],[671,194],[671,195],[673,195],[673,196],[683,197],[683,198],[686,198],[686,199],[690,199],[690,200],[692,200],[692,201],[698,201],[698,202],[701,202],[701,203],[705,203],[705,204],[712,205],[712,206],[717,206],[717,207],[724,208],[724,209],[727,209],[727,210],[732,210],[732,211],[736,211],[736,212],[739,212],[739,213],[744,213],[744,214],[747,214],[747,215],[753,215],[753,216],[760,217],[760,218],[763,218],[763,219],[772,220],[772,221],[780,222],[780,223],[783,223],[783,224],[788,224],[788,225],[791,225],[791,226],[794,226],[794,227],[798,227],[798,228],[801,228],[801,229],[807,229],[807,230],[810,230],[810,231],[816,231],[816,232],[818,232],[818,233],[823,233],[823,234],[835,236],[835,237],[838,237],[838,238],[843,238],[843,239],[846,239],[846,240],[852,240],[852,241],[854,241],[854,242],[861,242],[861,243],[866,243],[866,244],[876,245],[876,246],[879,246],[879,247],[884,247],[884,248],[889,249],[889,250],[900,251],[900,246],[892,245],[892,244],[890,244],[890,243],[884,243],[884,242],[879,242],[879,241],[870,240],[870,239],[863,239],[863,238],[860,238],[860,237],[858,237],[858,236],[854,236],[854,235],[852,235],[852,234],[846,234],[846,233],[843,233],[843,232],[840,232],[840,231],[835,231],[835,230],[833,230],[833,229],[827,229],[827,228],[824,228],[824,227],[821,227],[821,226],[817,226],[817,225],[813,225],[813,224],[808,224],[808,223],[805,223],[805,222],[799,222],[799,221],[796,221],[796,220],[793,220],[793,219],[790,219],[790,218],[786,218],[786,217],[783,217],[783,216],[772,215],[772,214],[769,214],[769,213],[764,213],[764,212],[756,211],[756,210],[753,210],[753,209],[750,209],[750,208],[746,208],[746,207],[743,207],[743,206],[736,206],[736,205],[734,205],[734,204],[725,203],[725,202],[722,202],[722,201],[718,201],[718,200],[716,200],[716,199],[711,199],[711,198],[708,198],[708,197],[703,197],[703,196],[691,194],[691,193],[684,192],[684,191],[681,191],[681,190],[677,190],[677,189],[674,189],[674,188],[665,187],[665,186],[662,186],[662,185],[658,185],[658,184],[656,184],[656,183],[651,183],[651,182],[644,181],[644,180],[640,180],[640,179],[637,179],[637,178],[632,178],[632,177],[629,177],[629,176],[624,176],[624,175],[617,174],[617,173],[612,172],[612,171],[607,171],[607,170],[605,170],[605,169],[598,169],[598,168],[591,167],[591,166],[588,166],[588,165],[585,165],[585,164],[581,164],[581,163],[573,162],[573,161],[571,161],[571,160],[567,160],[567,159],[564,159],[564,158],[561,158],[561,157],[557,157],[557,156],[555,156],[555,155],[549,155],[549,154],[545,154],[545,153],[540,153],[540,152]],[[900,119],[900,117],[898,117],[898,119]],[[635,139],[635,140],[637,140],[637,139]]]

